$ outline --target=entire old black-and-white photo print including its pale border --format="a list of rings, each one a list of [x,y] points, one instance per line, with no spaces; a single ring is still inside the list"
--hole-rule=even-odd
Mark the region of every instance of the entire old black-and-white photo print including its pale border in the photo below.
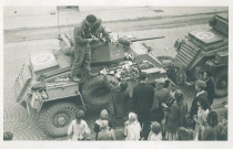
[[[2,12],[3,142],[230,140],[227,1]]]

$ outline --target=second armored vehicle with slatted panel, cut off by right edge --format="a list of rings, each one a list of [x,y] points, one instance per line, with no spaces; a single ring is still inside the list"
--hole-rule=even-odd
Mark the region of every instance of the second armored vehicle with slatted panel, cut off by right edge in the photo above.
[[[212,29],[191,31],[185,39],[176,41],[175,61],[185,67],[188,81],[211,71],[215,97],[222,97],[227,95],[229,14],[214,14],[209,24]]]

